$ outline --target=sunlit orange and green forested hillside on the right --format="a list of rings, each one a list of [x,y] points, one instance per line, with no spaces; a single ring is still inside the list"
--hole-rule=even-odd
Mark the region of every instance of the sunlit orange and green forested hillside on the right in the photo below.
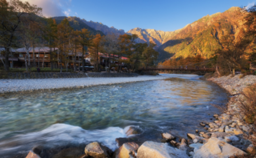
[[[223,35],[237,37],[243,23],[243,11],[239,7],[231,7],[223,13],[207,15],[192,24],[188,24],[158,48],[158,61],[175,57],[196,56],[210,58],[222,48],[219,40]]]

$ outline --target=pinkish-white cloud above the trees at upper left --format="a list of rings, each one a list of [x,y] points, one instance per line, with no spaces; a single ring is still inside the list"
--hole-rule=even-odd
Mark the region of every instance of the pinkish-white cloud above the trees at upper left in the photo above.
[[[56,16],[68,16],[71,10],[66,8],[71,6],[72,0],[21,0],[22,2],[29,2],[29,4],[35,4],[38,7],[43,8],[43,16],[56,17]]]

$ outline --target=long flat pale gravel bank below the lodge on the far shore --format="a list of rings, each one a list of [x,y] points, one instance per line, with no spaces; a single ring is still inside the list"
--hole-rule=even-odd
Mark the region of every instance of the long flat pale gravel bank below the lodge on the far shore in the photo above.
[[[49,78],[49,79],[25,79],[25,80],[0,80],[0,93],[59,89],[83,86],[95,86],[104,84],[118,84],[126,82],[139,82],[149,80],[165,79],[165,76],[138,76],[138,77],[116,77],[116,78]]]

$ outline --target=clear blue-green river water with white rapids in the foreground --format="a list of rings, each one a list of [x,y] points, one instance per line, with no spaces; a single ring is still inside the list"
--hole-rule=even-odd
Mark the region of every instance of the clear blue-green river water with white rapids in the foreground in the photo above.
[[[223,89],[197,75],[162,75],[170,78],[0,97],[0,157],[92,141],[114,150],[129,126],[143,140],[185,137],[219,112],[213,104],[227,102]]]

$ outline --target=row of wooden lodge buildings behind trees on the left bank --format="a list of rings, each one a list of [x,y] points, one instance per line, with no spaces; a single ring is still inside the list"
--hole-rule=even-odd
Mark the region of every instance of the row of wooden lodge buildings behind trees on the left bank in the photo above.
[[[0,48],[0,51],[3,51],[4,48]],[[52,52],[55,51],[57,53],[58,48],[52,48]],[[30,47],[29,49],[30,54],[30,65],[33,66],[33,48]],[[91,58],[89,57],[90,53],[84,54],[84,64],[85,65],[94,65]],[[50,61],[50,48],[49,47],[35,47],[34,48],[34,55],[35,55],[35,64],[36,67],[51,67],[51,61]],[[25,56],[26,56],[26,49],[25,48],[18,48],[18,49],[11,49],[11,54],[9,55],[9,67],[10,68],[20,68],[25,67]],[[69,53],[69,65],[68,68],[73,68],[74,63],[74,56],[75,54]],[[82,66],[82,53],[77,52],[76,54],[76,66]],[[5,57],[0,55],[0,67],[3,66],[2,59],[4,60]],[[100,59],[100,65],[103,67],[108,67],[109,62],[111,65],[118,66],[118,56],[111,54],[110,57],[107,54],[99,53],[99,59]],[[128,58],[120,57],[121,60],[126,60]],[[28,58],[27,58],[28,62]],[[64,66],[64,65],[63,65]],[[121,63],[120,66],[125,67],[124,63]],[[58,68],[58,62],[53,62],[53,68]],[[65,68],[65,67],[63,67]]]

